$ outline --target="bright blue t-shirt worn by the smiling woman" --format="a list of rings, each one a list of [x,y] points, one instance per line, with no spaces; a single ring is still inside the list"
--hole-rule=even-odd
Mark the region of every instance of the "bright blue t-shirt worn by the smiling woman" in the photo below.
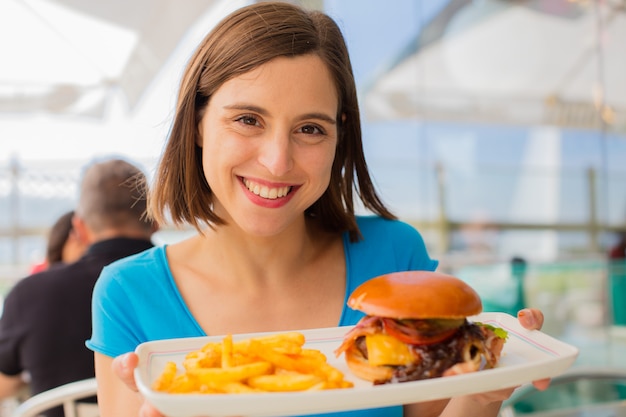
[[[363,239],[343,236],[346,299],[364,281],[397,271],[434,271],[422,236],[411,225],[377,216],[359,216]],[[150,340],[206,336],[172,277],[165,246],[105,267],[93,292],[93,331],[87,347],[115,357]],[[363,313],[344,308],[338,326],[356,324]],[[324,414],[324,416],[401,416],[402,407]]]

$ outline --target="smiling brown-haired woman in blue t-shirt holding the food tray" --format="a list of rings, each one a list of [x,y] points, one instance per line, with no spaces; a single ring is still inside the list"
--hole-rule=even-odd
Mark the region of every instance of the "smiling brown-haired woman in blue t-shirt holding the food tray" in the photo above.
[[[255,3],[205,37],[149,193],[157,221],[198,233],[103,269],[87,342],[102,417],[159,415],[133,378],[142,342],[354,325],[363,313],[346,298],[360,283],[437,267],[375,191],[359,117],[345,41],[326,14]],[[356,215],[355,199],[372,214]],[[542,320],[520,316],[529,328]],[[512,391],[341,415],[488,417]]]

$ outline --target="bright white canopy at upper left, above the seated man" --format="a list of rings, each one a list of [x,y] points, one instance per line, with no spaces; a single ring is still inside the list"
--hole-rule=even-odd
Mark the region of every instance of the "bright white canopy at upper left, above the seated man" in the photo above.
[[[194,21],[220,0],[0,1],[0,112],[133,108]]]

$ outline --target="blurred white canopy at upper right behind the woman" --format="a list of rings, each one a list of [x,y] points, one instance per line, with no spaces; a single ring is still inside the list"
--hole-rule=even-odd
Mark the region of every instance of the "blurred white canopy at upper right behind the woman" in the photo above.
[[[626,131],[626,0],[452,0],[364,94],[371,119]]]

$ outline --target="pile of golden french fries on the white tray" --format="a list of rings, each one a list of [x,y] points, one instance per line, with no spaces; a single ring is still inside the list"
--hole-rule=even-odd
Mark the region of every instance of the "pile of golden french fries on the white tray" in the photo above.
[[[168,362],[154,381],[171,394],[237,394],[351,388],[326,356],[304,348],[299,332],[233,341],[232,335],[188,353],[179,369]]]

